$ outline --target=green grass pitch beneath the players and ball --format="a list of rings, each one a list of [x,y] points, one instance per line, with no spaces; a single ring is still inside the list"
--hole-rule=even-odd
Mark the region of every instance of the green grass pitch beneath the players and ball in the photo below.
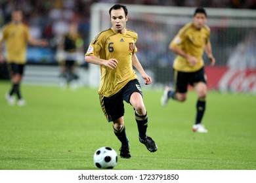
[[[0,169],[94,170],[93,154],[120,143],[100,108],[96,89],[75,91],[22,85],[28,105],[9,106],[10,83],[0,81]],[[143,88],[146,88],[143,86]],[[203,123],[209,133],[192,132],[196,93],[185,103],[161,107],[162,91],[144,90],[148,135],[158,151],[148,152],[138,138],[133,108],[125,105],[131,159],[118,159],[117,170],[256,169],[256,96],[209,92]]]

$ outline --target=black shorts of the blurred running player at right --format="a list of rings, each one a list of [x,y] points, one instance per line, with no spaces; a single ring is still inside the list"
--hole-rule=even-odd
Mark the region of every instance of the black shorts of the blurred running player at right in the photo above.
[[[207,84],[204,67],[192,73],[185,73],[174,69],[174,81],[175,91],[179,93],[186,93],[188,91],[188,84],[191,86],[194,86],[197,82],[204,82]]]

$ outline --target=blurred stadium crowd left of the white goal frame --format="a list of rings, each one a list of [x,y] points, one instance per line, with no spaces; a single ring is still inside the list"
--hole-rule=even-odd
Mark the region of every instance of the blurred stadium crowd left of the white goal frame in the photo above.
[[[84,39],[89,35],[89,12],[91,1],[54,0],[12,0],[0,3],[0,27],[11,20],[11,12],[19,8],[24,12],[24,20],[30,26],[35,38],[49,39],[51,47],[56,40],[68,32],[71,22],[79,24],[79,32]]]

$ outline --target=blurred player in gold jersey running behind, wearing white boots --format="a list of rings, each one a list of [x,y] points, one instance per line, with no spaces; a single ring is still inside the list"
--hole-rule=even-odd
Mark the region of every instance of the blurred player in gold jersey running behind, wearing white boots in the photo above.
[[[202,59],[205,51],[211,65],[215,64],[210,42],[210,29],[205,25],[207,14],[204,8],[196,8],[193,22],[182,27],[169,44],[169,50],[177,54],[173,63],[175,88],[165,88],[161,97],[161,105],[167,105],[168,99],[186,101],[188,84],[194,87],[198,95],[196,103],[196,121],[192,130],[207,133],[202,118],[205,112],[207,80]]]

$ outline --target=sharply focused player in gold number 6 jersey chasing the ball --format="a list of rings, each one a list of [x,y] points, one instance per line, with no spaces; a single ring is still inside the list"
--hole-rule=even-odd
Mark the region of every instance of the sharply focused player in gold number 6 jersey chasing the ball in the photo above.
[[[123,101],[131,104],[135,110],[139,141],[150,152],[158,150],[156,143],[146,135],[148,114],[133,66],[145,80],[144,84],[151,84],[152,80],[136,56],[137,33],[126,29],[127,8],[117,4],[110,8],[109,14],[112,27],[98,33],[85,54],[85,61],[100,65],[100,105],[108,122],[113,122],[114,133],[121,142],[121,158],[131,158],[129,141],[125,133]]]

